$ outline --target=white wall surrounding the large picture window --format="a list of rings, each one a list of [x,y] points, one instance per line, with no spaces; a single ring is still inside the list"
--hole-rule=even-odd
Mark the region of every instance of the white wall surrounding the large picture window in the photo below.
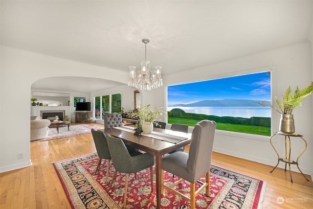
[[[303,43],[294,46],[286,46],[283,48],[274,49],[264,53],[246,56],[239,59],[234,59],[215,65],[201,67],[199,69],[192,69],[190,71],[179,72],[164,77],[164,84],[173,85],[184,82],[195,82],[205,79],[219,78],[223,76],[233,75],[231,72],[235,71],[249,71],[250,69],[268,67],[274,69],[273,96],[282,95],[285,93],[288,86],[294,91],[296,86],[300,89],[311,84],[312,72],[312,50],[310,43]],[[190,73],[192,71],[192,73]],[[253,71],[253,70],[252,70]],[[155,95],[166,93],[166,87],[162,90],[157,90]],[[208,90],[209,91],[209,90]],[[164,106],[166,96],[157,96],[155,102],[156,106]],[[308,149],[299,160],[300,169],[306,173],[312,173],[312,114],[313,114],[312,98],[306,98],[302,101],[302,107],[297,107],[293,111],[295,120],[295,131],[304,136],[308,142]],[[309,116],[309,117],[308,117]],[[273,132],[278,131],[280,115],[273,112]],[[259,137],[252,139],[252,136],[246,135],[244,138],[242,134],[227,134],[227,132],[217,131],[214,142],[214,151],[222,152],[228,155],[252,160],[255,162],[266,163],[269,165],[276,165],[277,155],[269,143],[269,137]],[[274,146],[279,151],[280,157],[284,154],[283,137],[274,138]],[[292,139],[292,160],[296,160],[298,155],[305,147],[304,142],[299,138]],[[283,167],[284,163],[280,163]],[[299,172],[296,166],[291,166],[292,171]]]

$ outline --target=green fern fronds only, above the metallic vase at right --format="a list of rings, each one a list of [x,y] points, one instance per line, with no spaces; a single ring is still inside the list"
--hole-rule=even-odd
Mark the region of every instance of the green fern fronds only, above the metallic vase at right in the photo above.
[[[275,102],[277,104],[277,107],[272,106],[269,102],[267,101],[262,101],[262,102],[255,102],[263,107],[271,107],[280,114],[292,114],[292,111],[295,107],[301,107],[301,100],[309,96],[313,92],[313,82],[311,81],[311,85],[299,90],[297,89],[294,91],[294,94],[291,94],[291,88],[290,86],[287,88],[286,92],[284,95],[282,95],[281,102],[278,100],[278,98],[275,96]]]

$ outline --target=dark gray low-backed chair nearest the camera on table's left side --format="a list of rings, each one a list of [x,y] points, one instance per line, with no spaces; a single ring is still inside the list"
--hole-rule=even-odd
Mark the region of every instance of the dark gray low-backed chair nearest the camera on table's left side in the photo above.
[[[155,164],[155,156],[149,153],[132,152],[129,153],[123,140],[113,138],[106,134],[109,150],[112,157],[112,162],[115,168],[112,182],[109,190],[112,188],[117,171],[125,173],[125,190],[124,190],[124,209],[126,206],[127,191],[128,191],[128,176],[130,173],[136,173],[147,167],[150,167],[151,191],[153,191],[153,165]]]

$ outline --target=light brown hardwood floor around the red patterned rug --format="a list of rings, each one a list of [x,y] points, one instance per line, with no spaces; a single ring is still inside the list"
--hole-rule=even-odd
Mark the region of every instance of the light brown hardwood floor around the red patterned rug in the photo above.
[[[103,128],[101,124],[90,124]],[[83,135],[30,143],[32,166],[0,173],[0,209],[70,209],[52,162],[96,152],[92,136]],[[263,209],[309,209],[313,207],[313,183],[295,172],[214,152],[213,165],[267,182]],[[277,198],[284,203],[278,204]],[[301,198],[301,199],[297,199]],[[301,202],[302,201],[302,202]]]

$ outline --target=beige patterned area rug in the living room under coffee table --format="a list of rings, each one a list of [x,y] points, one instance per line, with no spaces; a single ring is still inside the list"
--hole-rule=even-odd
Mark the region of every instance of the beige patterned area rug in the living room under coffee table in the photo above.
[[[67,125],[63,125],[59,127],[59,133],[58,133],[56,127],[49,127],[47,138],[38,139],[38,140],[30,141],[30,142],[45,141],[45,140],[52,140],[52,139],[63,139],[63,138],[75,137],[79,135],[91,134],[92,128],[97,130],[96,127],[93,127],[87,124],[69,125],[69,131],[68,131]]]

